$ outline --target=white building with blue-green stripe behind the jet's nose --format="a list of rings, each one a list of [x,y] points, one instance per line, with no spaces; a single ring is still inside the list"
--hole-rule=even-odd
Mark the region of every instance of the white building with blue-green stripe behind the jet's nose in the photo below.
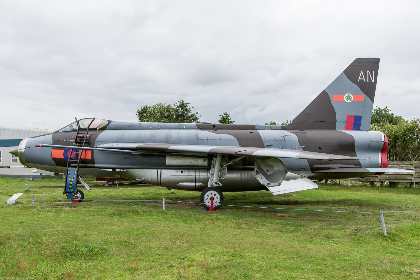
[[[0,125],[0,166],[10,166],[10,168],[0,168],[0,177],[41,179],[44,177],[54,177],[53,172],[24,167],[17,156],[9,153],[18,148],[24,138],[53,133],[55,130],[38,129],[28,127],[8,127]],[[58,176],[55,176],[58,177]]]

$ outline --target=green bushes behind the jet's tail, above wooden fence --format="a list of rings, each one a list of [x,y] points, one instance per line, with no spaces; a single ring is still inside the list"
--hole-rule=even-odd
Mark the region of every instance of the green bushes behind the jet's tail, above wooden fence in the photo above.
[[[378,130],[388,137],[391,160],[417,161],[420,159],[420,119],[399,120],[396,124],[382,122],[371,124],[370,130]]]

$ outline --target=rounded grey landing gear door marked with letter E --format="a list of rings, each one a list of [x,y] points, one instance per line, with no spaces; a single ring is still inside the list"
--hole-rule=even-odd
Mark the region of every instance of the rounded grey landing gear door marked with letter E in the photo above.
[[[278,158],[255,158],[254,174],[267,187],[279,186],[287,174],[286,166]]]

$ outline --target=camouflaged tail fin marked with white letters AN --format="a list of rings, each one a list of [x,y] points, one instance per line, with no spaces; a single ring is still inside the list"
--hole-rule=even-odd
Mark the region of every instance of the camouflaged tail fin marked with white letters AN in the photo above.
[[[357,58],[293,122],[282,129],[370,128],[379,58]]]

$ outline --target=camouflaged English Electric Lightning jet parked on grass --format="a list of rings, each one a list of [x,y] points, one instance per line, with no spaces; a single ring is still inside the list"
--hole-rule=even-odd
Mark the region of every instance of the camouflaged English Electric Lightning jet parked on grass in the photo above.
[[[76,119],[11,153],[66,174],[70,199],[84,197],[77,178],[89,189],[80,176],[121,177],[201,191],[206,209],[223,204],[222,191],[277,195],[318,188],[317,179],[410,172],[388,168],[386,135],[369,131],[378,68],[379,58],[357,58],[286,126]]]

